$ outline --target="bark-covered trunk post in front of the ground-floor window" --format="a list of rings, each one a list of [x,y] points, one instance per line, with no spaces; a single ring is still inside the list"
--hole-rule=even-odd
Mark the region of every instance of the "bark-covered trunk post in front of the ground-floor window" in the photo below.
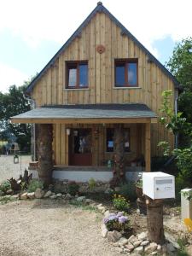
[[[114,128],[114,175],[117,183],[125,179],[125,155],[124,155],[124,129],[123,125],[115,125]]]

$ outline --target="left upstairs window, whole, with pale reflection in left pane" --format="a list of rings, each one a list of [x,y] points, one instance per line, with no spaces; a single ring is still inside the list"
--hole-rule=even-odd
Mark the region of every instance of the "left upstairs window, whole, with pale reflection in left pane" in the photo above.
[[[67,88],[88,87],[88,62],[67,62]]]

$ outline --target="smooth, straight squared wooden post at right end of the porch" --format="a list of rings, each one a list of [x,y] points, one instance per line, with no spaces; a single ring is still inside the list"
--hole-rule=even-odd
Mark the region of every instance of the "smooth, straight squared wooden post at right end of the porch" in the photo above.
[[[151,123],[145,124],[145,171],[151,172]]]

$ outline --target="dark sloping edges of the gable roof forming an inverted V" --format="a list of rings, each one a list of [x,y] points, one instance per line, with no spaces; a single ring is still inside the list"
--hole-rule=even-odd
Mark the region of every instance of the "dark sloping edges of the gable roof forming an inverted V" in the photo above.
[[[63,44],[63,46],[61,47],[61,49],[59,49],[57,51],[57,53],[53,56],[53,58],[48,62],[48,64],[42,69],[42,71],[40,73],[38,73],[38,75],[35,77],[35,79],[32,80],[32,82],[28,85],[28,87],[26,88],[26,94],[30,94],[30,92],[32,91],[33,87],[35,86],[35,84],[38,82],[38,79],[41,79],[42,75],[44,74],[44,72],[46,72],[46,70],[51,67],[55,60],[59,57],[59,55],[61,54],[61,52],[63,52],[65,49],[67,49],[68,45],[71,44],[73,42],[73,40],[79,36],[79,34],[82,32],[82,30],[84,29],[85,26],[87,26],[87,24],[90,22],[90,20],[94,17],[94,15],[96,15],[96,13],[104,13],[105,15],[108,15],[108,17],[110,18],[110,20],[113,20],[113,22],[119,26],[119,28],[121,29],[121,34],[122,35],[126,35],[127,37],[131,38],[131,40],[137,44],[137,46],[140,49],[143,49],[143,51],[146,53],[146,55],[148,55],[149,60],[148,61],[152,61],[154,62],[158,67],[160,67],[160,69],[166,73],[166,75],[172,79],[173,83],[175,84],[176,88],[178,88],[179,83],[177,81],[177,79],[172,75],[172,73],[170,73],[166,67],[164,67],[160,61],[158,61],[154,55],[152,55],[148,49],[146,49],[143,44],[141,44],[137,38],[135,38],[131,32],[129,32],[125,26],[123,26],[119,20],[117,20],[109,11],[108,9],[106,9],[103,5],[102,2],[98,2],[96,8],[90,13],[90,15],[84,20],[84,22],[79,26],[79,28],[73,32],[73,35],[71,36],[71,38],[69,38],[67,40],[67,42],[65,44]]]

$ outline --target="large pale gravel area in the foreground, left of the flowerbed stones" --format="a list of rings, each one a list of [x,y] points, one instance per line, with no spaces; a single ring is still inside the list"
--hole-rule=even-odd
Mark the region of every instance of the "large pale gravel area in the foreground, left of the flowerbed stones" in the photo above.
[[[102,215],[65,201],[0,205],[1,256],[117,256],[101,237]]]

